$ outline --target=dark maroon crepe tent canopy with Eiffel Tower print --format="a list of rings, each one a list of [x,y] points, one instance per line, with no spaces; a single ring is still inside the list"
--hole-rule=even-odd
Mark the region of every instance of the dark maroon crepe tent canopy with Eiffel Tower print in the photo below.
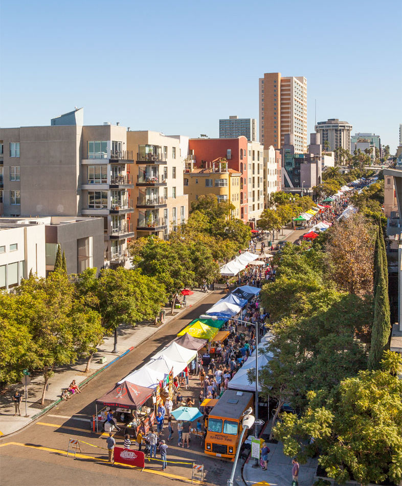
[[[152,395],[153,388],[146,388],[124,381],[96,400],[103,406],[137,410]]]

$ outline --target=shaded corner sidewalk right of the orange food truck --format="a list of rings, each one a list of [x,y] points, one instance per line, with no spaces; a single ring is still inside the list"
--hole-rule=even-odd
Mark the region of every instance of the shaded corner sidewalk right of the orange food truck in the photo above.
[[[271,424],[272,419],[268,424],[266,424],[262,437],[269,437],[271,432]],[[252,484],[255,483],[268,483],[271,486],[290,486],[290,484],[292,484],[292,457],[285,456],[283,453],[283,444],[281,442],[278,444],[267,443],[267,446],[270,448],[267,470],[262,471],[260,467],[254,469],[253,465],[255,461],[249,457],[245,461],[243,467],[243,479],[245,484],[252,486]],[[308,459],[306,464],[300,464],[300,486],[311,486],[311,484],[314,482],[317,465],[317,459]]]

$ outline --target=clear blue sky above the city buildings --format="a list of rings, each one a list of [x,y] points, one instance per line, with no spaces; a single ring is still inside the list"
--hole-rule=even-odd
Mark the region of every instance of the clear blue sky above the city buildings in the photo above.
[[[2,0],[2,126],[85,124],[218,136],[258,119],[264,72],[307,78],[308,132],[339,118],[394,151],[402,123],[400,0]]]

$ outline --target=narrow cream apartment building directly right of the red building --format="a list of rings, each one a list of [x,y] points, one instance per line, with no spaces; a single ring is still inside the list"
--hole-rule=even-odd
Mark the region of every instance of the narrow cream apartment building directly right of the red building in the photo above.
[[[264,146],[259,142],[247,144],[248,154],[248,204],[249,223],[257,225],[257,220],[265,207],[264,201]]]

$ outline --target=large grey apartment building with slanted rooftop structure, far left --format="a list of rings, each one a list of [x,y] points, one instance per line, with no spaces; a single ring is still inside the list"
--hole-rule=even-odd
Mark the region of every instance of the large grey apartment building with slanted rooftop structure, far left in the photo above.
[[[126,133],[110,123],[83,125],[82,108],[50,126],[2,128],[2,214],[102,217],[105,262],[123,264],[135,235]]]

